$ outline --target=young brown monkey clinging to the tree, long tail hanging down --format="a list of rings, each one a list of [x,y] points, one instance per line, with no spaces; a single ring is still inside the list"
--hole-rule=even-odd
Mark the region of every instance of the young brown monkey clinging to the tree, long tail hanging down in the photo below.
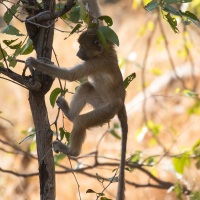
[[[92,1],[97,3],[97,0],[90,0],[89,2]],[[122,144],[117,200],[124,200],[124,170],[128,134],[127,113],[124,104],[125,88],[114,44],[107,41],[108,47],[104,48],[96,31],[97,29],[88,29],[81,33],[78,38],[79,50],[77,56],[83,60],[81,64],[72,68],[59,68],[53,64],[44,63],[40,59],[36,60],[29,57],[25,65],[68,81],[88,78],[76,90],[69,105],[62,96],[57,99],[58,107],[73,123],[73,128],[68,145],[61,141],[53,142],[55,152],[78,156],[86,136],[86,130],[108,123],[115,115],[118,116],[122,127]],[[80,114],[86,104],[92,105],[94,109],[88,113]]]

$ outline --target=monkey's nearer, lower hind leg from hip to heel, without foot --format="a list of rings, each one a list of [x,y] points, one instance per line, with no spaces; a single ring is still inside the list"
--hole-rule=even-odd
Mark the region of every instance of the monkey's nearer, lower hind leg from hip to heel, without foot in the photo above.
[[[69,155],[78,155],[85,139],[86,129],[107,123],[118,113],[123,102],[116,100],[102,105],[95,110],[79,115],[74,119],[73,130],[70,134]]]

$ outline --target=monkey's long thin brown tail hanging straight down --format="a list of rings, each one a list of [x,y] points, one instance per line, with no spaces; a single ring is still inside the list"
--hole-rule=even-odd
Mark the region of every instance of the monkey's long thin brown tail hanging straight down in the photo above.
[[[117,190],[117,200],[125,199],[125,165],[126,165],[126,143],[128,135],[128,123],[125,105],[118,112],[118,118],[122,128],[122,145],[121,145],[121,162],[120,162],[120,173],[119,173],[119,183]]]

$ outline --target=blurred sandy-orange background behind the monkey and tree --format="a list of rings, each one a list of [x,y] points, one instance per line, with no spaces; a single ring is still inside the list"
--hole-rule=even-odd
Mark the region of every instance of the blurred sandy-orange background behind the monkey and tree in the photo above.
[[[123,77],[125,79],[136,73],[136,78],[126,89],[129,124],[127,158],[146,166],[145,171],[134,167],[127,170],[126,199],[198,200],[200,29],[194,24],[185,26],[177,18],[179,33],[174,33],[159,11],[147,12],[144,9],[148,2],[100,1],[102,14],[113,19],[112,29],[119,37],[120,45],[116,51]],[[12,3],[7,1],[6,5]],[[198,0],[175,6],[191,11],[197,17],[200,14]],[[1,29],[5,26],[5,11],[5,6],[0,4]],[[26,35],[24,23],[13,19],[12,24]],[[56,28],[53,45],[60,66],[72,67],[80,63],[76,57],[78,35],[68,37],[68,33],[59,31],[69,30],[62,20],[57,21]],[[13,36],[0,33],[1,43],[10,39]],[[3,44],[2,47],[5,48]],[[35,56],[35,53],[31,55]],[[56,57],[52,58],[54,63]],[[24,61],[26,58],[26,55],[19,56]],[[23,63],[18,63],[13,70],[22,73],[23,67]],[[2,77],[6,78],[0,74],[0,199],[39,199],[39,181],[35,175],[38,163],[28,91]],[[74,92],[77,86],[77,82],[66,82],[69,92]],[[56,87],[59,87],[58,80],[54,81],[51,91]],[[46,104],[51,124],[55,121],[58,109],[50,105],[50,92],[46,95]],[[71,97],[71,93],[66,94],[68,101]],[[89,106],[86,107],[84,112],[89,109]],[[62,125],[62,117],[59,123]],[[64,119],[64,124],[70,132],[72,124],[67,119]],[[98,145],[99,162],[119,159],[121,140],[115,134],[120,135],[121,130],[116,124],[118,120],[114,118],[109,131],[108,125],[88,131],[82,150],[83,157],[71,161],[73,168],[94,166],[94,157],[84,155],[96,151]],[[53,126],[52,129],[55,131]],[[33,137],[23,141],[32,133]],[[59,160],[57,163],[70,168],[67,157],[56,159]],[[78,183],[74,174],[58,173],[56,199],[80,199],[79,193],[83,200],[96,199],[95,193],[86,191],[91,189],[101,192],[108,182],[102,182],[98,177],[111,178],[115,168],[102,165],[92,167],[88,173],[79,171],[75,173]],[[61,172],[62,169],[56,167],[57,171]],[[153,180],[151,175],[160,182]],[[165,187],[167,183],[173,183],[174,187]],[[116,187],[117,183],[109,185],[105,192],[107,198],[115,199]],[[188,189],[186,192],[191,192],[190,195],[184,193],[184,187]]]

